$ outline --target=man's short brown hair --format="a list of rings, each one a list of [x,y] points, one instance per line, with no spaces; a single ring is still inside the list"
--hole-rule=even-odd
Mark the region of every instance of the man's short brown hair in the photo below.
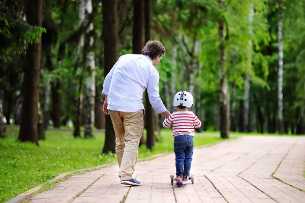
[[[148,55],[151,60],[156,59],[158,55],[162,56],[164,53],[165,53],[165,48],[163,44],[157,40],[154,41],[149,40],[148,42],[146,42],[144,48],[142,49],[142,54]]]

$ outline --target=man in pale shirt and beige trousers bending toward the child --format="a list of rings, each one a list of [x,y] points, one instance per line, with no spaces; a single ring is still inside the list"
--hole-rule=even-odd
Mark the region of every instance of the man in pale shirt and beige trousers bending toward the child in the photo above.
[[[142,54],[119,57],[103,84],[105,101],[103,111],[110,114],[115,131],[115,152],[121,184],[141,186],[133,179],[138,148],[143,132],[143,92],[147,89],[149,102],[163,117],[170,112],[159,95],[159,73],[155,66],[165,53],[159,41],[148,41]]]

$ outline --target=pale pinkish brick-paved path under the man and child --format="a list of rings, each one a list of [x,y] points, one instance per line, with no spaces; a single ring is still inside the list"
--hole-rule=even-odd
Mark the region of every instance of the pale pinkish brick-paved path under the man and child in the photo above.
[[[174,164],[174,154],[138,163],[141,187],[120,185],[118,166],[75,175],[31,201],[305,202],[305,137],[247,136],[195,148],[195,183],[181,188],[170,184]]]

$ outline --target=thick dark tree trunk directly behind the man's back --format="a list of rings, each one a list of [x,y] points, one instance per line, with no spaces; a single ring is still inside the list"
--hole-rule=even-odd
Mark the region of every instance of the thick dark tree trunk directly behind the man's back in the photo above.
[[[118,57],[117,39],[117,0],[103,2],[103,42],[104,42],[104,76],[106,77]],[[106,51],[107,50],[107,51]],[[111,118],[105,118],[105,144],[103,153],[108,151],[115,153],[115,132]]]

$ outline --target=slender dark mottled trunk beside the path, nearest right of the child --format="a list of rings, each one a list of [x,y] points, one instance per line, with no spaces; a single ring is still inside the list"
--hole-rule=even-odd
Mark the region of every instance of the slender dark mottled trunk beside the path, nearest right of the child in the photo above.
[[[228,81],[226,68],[226,27],[222,19],[219,20],[219,73],[220,73],[220,135],[221,138],[229,138],[229,121],[228,121]]]

